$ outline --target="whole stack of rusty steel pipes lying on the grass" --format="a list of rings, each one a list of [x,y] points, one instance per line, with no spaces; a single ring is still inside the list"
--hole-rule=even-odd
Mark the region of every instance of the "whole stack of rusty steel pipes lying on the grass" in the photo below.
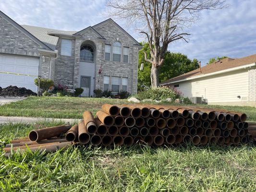
[[[13,140],[4,150],[30,148],[46,152],[71,144],[92,145],[238,145],[256,138],[256,123],[246,114],[224,109],[171,105],[104,104],[96,113],[85,111],[78,124],[33,130],[28,138]],[[249,129],[248,129],[249,128]],[[65,134],[65,138],[60,135]]]

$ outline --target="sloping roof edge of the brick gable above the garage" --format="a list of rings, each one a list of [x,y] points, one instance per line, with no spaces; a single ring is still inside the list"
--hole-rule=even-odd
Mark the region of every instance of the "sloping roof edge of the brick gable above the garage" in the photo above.
[[[21,25],[17,24],[15,21],[13,21],[10,17],[8,17],[6,14],[0,11],[0,17],[2,17],[4,20],[12,24],[16,29],[18,29],[20,32],[22,32],[24,35],[28,36],[31,40],[33,40],[37,45],[39,45],[42,48],[52,50],[49,48],[46,44],[44,44],[42,41],[37,39],[37,37],[33,36],[31,33],[29,33],[27,30],[25,30]]]

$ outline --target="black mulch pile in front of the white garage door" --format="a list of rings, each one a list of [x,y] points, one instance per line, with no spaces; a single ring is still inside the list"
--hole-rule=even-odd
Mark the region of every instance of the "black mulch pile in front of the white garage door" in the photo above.
[[[30,89],[11,85],[3,89],[0,87],[0,96],[37,96],[37,94]]]

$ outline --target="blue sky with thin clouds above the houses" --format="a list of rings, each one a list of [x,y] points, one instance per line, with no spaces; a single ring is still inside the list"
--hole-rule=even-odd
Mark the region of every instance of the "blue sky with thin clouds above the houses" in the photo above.
[[[185,32],[189,43],[177,41],[169,50],[188,55],[205,64],[209,58],[241,58],[256,54],[256,0],[227,0],[225,10],[204,11]],[[106,0],[1,0],[0,10],[19,24],[79,31],[107,16]],[[133,27],[115,20],[138,41],[143,38]]]

